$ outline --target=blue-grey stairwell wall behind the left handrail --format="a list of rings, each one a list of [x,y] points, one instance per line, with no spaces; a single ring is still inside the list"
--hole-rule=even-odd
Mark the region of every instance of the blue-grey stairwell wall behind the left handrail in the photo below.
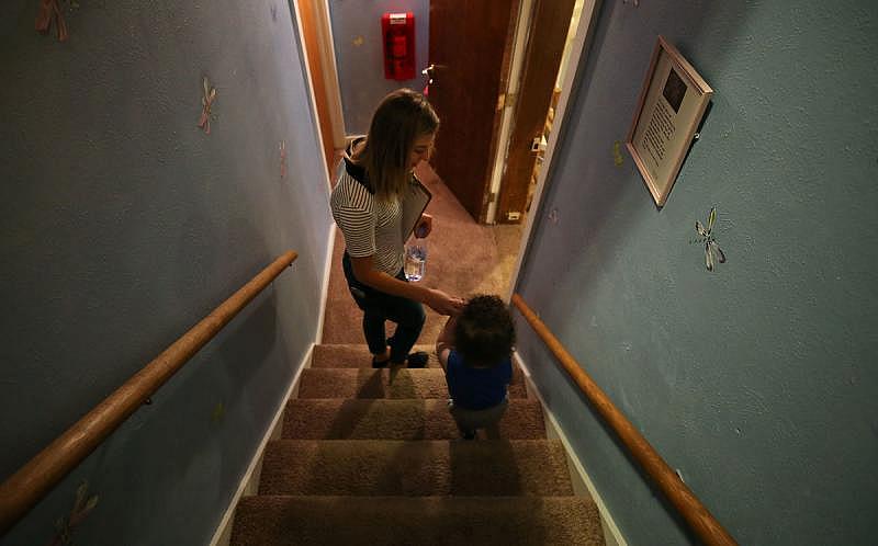
[[[0,543],[49,544],[88,480],[76,544],[206,544],[317,329],[331,218],[290,8],[81,1],[65,43],[36,8],[0,8],[1,479],[300,258]]]

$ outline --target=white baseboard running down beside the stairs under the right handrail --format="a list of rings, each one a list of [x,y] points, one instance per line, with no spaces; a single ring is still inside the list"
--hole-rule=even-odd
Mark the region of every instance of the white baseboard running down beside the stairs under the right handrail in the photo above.
[[[545,418],[545,430],[548,436],[550,439],[560,440],[564,446],[564,453],[567,455],[567,467],[570,468],[574,493],[577,497],[590,497],[592,500],[595,501],[595,504],[597,504],[597,510],[600,513],[600,524],[604,527],[604,542],[607,546],[628,546],[628,543],[626,542],[621,532],[619,532],[619,527],[616,525],[616,521],[612,519],[612,514],[610,514],[609,510],[607,510],[604,499],[601,499],[594,481],[592,481],[592,478],[585,470],[585,466],[571,447],[566,434],[564,434],[563,429],[561,429],[561,425],[559,425],[554,414],[552,414],[552,412],[545,407],[545,401],[543,400],[542,395],[537,388],[537,385],[534,385],[533,379],[530,377],[530,369],[528,369],[527,365],[518,355],[518,353],[513,354],[519,367],[525,373],[525,384],[527,386],[528,396],[533,396],[537,398],[542,406],[542,414]]]

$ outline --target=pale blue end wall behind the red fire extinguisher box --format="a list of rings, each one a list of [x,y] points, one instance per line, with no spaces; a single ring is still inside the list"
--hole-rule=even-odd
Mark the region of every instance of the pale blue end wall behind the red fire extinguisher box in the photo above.
[[[384,79],[381,15],[407,11],[415,15],[415,78],[387,80]],[[389,92],[403,87],[416,91],[424,89],[426,81],[420,70],[427,66],[429,54],[429,0],[329,0],[338,84],[348,135],[369,130],[372,112]]]

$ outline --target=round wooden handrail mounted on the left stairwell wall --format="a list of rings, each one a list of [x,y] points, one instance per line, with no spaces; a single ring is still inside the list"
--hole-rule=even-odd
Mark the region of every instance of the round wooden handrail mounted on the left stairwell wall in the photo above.
[[[0,536],[143,406],[296,257],[289,251],[274,260],[0,485]]]

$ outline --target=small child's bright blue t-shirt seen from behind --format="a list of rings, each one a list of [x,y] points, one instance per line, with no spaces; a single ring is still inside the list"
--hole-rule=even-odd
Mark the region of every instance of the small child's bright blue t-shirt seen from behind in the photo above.
[[[454,406],[469,410],[493,408],[506,399],[506,387],[513,380],[513,362],[506,359],[494,367],[470,367],[463,363],[463,356],[451,350],[446,380]]]

